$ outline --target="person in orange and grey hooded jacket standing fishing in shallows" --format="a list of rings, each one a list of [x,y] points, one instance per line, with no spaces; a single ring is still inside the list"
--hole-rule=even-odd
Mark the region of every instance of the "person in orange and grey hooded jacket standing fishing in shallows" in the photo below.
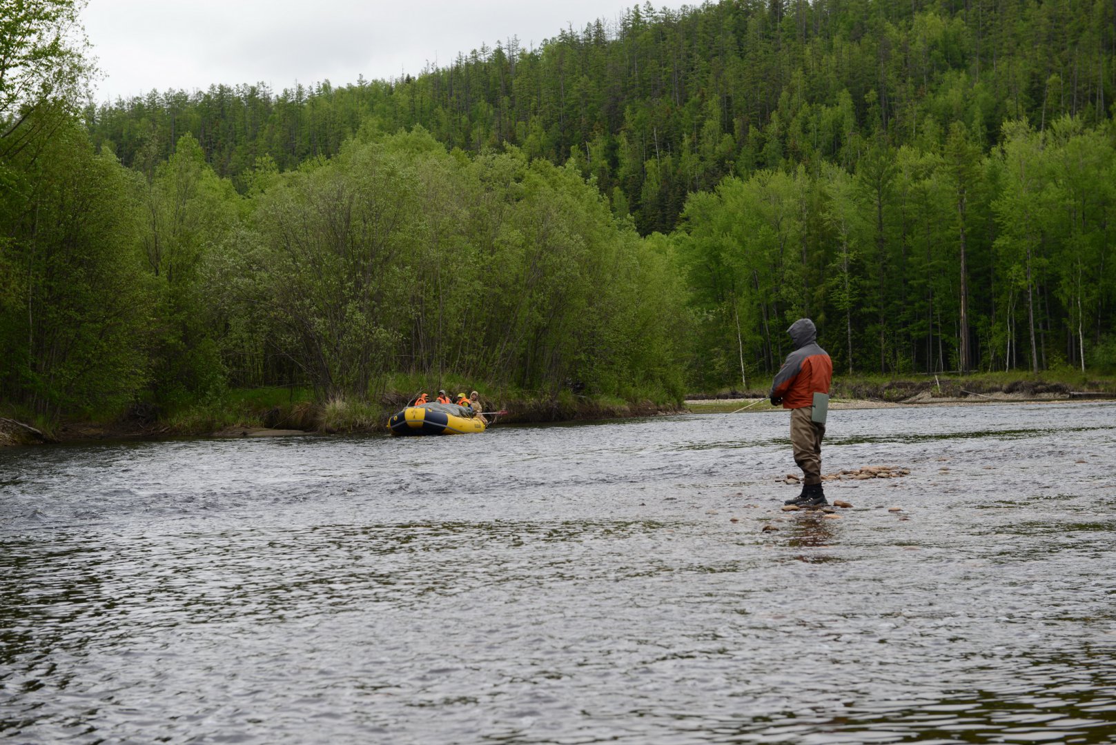
[[[771,405],[782,404],[790,409],[790,444],[795,463],[802,470],[802,492],[786,504],[816,507],[826,502],[821,488],[821,438],[826,425],[815,422],[814,394],[829,394],[834,364],[826,350],[818,346],[818,330],[814,321],[800,318],[787,329],[795,350],[787,355],[779,373],[771,383]],[[822,417],[824,419],[824,417]]]

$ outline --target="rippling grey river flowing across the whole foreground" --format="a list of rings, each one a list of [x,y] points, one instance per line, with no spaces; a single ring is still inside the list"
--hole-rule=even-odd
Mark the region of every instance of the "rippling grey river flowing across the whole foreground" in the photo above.
[[[1116,742],[1116,405],[787,424],[0,451],[0,738]]]

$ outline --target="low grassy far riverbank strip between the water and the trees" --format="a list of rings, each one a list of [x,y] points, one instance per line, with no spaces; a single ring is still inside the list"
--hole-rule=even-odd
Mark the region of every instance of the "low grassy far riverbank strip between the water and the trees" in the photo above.
[[[694,394],[681,403],[628,401],[617,397],[588,397],[561,391],[558,396],[512,391],[481,396],[485,410],[507,410],[499,424],[578,422],[668,414],[713,414],[771,410],[767,381],[748,390]],[[410,385],[410,384],[406,384]],[[427,386],[430,387],[430,386]],[[830,408],[892,406],[971,406],[1006,403],[1116,398],[1116,378],[1060,371],[1031,377],[1011,374],[918,376],[884,378],[837,377]],[[375,401],[311,400],[297,388],[230,390],[219,399],[160,409],[137,404],[114,418],[62,419],[30,426],[9,414],[0,419],[0,446],[90,439],[153,439],[174,436],[266,437],[299,434],[381,434],[387,418],[406,406],[412,394],[389,391]]]

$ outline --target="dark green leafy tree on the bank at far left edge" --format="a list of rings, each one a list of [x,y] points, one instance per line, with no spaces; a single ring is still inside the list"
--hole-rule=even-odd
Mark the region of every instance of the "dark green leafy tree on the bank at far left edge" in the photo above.
[[[0,217],[10,273],[0,303],[3,395],[40,413],[123,406],[148,379],[148,277],[136,251],[134,181],[67,122]]]

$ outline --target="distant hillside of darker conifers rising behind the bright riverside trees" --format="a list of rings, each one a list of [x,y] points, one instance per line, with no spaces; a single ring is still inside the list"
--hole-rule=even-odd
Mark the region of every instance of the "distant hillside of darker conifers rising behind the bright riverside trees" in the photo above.
[[[167,157],[189,130],[242,188],[262,154],[294,170],[362,127],[421,125],[450,148],[573,159],[646,235],[671,232],[686,195],[727,175],[854,172],[879,144],[940,149],[958,123],[987,153],[1007,119],[1096,126],[1116,97],[1109,2],[786,4],[633,7],[417,77],[152,91],[87,118],[127,164],[148,147]]]

